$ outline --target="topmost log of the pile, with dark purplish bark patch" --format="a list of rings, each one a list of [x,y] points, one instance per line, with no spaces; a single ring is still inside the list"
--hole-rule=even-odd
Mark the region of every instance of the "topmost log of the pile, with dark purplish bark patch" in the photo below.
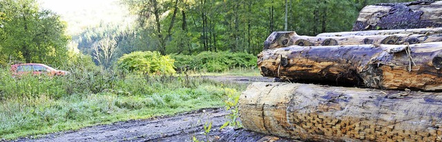
[[[365,6],[353,31],[442,27],[442,1],[381,3]]]

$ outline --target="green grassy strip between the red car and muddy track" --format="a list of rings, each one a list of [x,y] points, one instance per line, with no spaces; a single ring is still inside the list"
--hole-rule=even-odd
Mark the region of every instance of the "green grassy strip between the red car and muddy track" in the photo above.
[[[182,75],[79,70],[14,79],[0,69],[0,78],[0,139],[220,107],[229,93],[246,88]]]

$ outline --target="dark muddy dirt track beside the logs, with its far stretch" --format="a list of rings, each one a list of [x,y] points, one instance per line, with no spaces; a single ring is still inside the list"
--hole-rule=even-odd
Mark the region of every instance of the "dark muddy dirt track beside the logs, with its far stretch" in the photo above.
[[[265,77],[204,77],[216,81],[251,83],[273,81]],[[224,108],[206,108],[175,116],[161,116],[144,120],[131,120],[108,125],[95,125],[80,130],[57,132],[15,141],[294,141],[244,130],[220,127],[229,112]],[[209,134],[204,134],[204,124],[212,123]],[[0,140],[1,141],[1,140]]]

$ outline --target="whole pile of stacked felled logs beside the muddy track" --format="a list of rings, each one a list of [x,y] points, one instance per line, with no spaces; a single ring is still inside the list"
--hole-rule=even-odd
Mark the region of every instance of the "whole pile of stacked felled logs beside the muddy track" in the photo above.
[[[354,30],[364,31],[273,32],[258,68],[290,83],[250,85],[244,128],[302,141],[442,141],[441,8],[378,4],[361,11]]]

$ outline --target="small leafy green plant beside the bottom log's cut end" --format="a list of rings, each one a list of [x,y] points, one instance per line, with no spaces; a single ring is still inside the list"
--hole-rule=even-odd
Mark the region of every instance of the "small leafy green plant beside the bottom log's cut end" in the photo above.
[[[220,129],[227,127],[227,125],[242,128],[242,123],[238,121],[238,117],[240,116],[238,112],[238,101],[240,100],[241,93],[230,88],[225,88],[224,90],[228,97],[228,99],[224,101],[224,105],[226,106],[227,110],[230,110],[231,113],[227,115],[229,121],[224,123]]]

